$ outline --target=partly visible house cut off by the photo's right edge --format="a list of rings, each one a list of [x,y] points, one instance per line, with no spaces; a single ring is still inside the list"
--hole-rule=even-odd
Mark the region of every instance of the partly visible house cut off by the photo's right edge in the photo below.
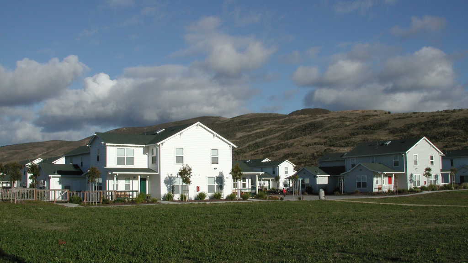
[[[450,171],[456,168],[455,183],[468,182],[468,149],[447,151],[442,157],[442,168]]]

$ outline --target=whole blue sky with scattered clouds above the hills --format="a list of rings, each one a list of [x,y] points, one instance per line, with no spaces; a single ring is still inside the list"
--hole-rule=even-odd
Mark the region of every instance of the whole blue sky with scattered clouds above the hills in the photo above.
[[[0,145],[468,102],[468,1],[3,1]]]

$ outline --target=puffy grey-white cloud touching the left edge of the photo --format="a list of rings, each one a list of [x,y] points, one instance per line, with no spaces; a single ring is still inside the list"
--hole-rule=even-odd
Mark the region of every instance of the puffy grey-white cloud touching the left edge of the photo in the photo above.
[[[16,62],[13,71],[0,66],[0,104],[13,106],[41,102],[65,90],[87,68],[74,55],[62,61],[52,58],[47,63],[24,58]]]

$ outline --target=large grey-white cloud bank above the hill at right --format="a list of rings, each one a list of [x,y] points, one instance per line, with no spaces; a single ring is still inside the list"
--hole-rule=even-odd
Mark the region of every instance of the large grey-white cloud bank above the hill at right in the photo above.
[[[453,109],[468,102],[456,83],[453,62],[437,48],[423,47],[380,64],[363,54],[358,59],[352,50],[337,56],[323,73],[298,67],[293,81],[314,88],[304,99],[307,106],[405,112]]]

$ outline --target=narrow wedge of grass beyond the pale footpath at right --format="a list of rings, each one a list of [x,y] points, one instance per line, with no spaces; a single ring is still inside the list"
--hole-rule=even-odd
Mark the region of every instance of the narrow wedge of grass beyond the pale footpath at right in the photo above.
[[[434,191],[409,197],[359,198],[347,200],[417,205],[468,205],[468,190],[449,192]]]

